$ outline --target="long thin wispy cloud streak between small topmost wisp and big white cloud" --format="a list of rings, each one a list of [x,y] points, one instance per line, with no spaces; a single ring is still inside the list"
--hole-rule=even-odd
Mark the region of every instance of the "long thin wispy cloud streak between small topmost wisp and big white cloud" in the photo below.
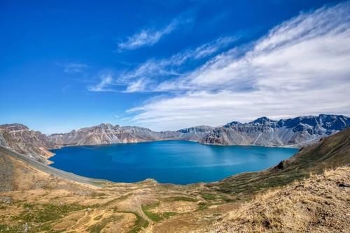
[[[113,91],[120,86],[123,92],[150,92],[162,91],[159,83],[172,77],[180,77],[186,74],[186,66],[189,62],[200,61],[204,63],[215,54],[228,48],[239,36],[225,36],[172,55],[166,59],[149,59],[130,70],[119,70],[118,74],[111,71],[100,74],[99,83],[88,87],[90,91]]]

